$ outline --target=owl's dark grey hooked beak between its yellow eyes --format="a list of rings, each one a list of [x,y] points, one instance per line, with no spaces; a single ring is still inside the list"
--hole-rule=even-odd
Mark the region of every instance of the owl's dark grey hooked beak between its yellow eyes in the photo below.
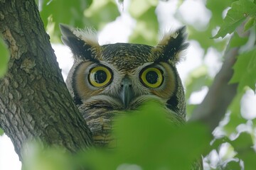
[[[134,91],[132,90],[132,81],[124,77],[121,84],[121,93],[120,98],[122,99],[122,103],[124,104],[124,108],[129,106],[130,101],[134,98]]]

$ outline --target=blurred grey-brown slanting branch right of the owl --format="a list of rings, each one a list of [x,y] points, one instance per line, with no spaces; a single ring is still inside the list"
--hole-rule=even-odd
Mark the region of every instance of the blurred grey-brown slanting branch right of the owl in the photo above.
[[[245,23],[245,22],[244,22]],[[250,32],[244,33],[244,23],[238,27],[237,32],[241,37],[248,37]],[[233,36],[230,38],[232,40]],[[203,102],[193,111],[189,121],[201,121],[208,125],[212,132],[225,115],[228,106],[237,94],[238,83],[229,84],[233,77],[233,66],[239,55],[240,47],[230,48],[227,45],[225,50],[225,60],[220,72],[216,74],[212,86],[203,99]]]

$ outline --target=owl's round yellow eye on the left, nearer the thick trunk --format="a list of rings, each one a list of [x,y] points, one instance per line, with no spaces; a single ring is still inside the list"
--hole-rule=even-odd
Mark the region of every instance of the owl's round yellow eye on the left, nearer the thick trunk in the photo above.
[[[106,67],[98,66],[90,70],[89,81],[92,86],[102,87],[110,83],[112,74]]]

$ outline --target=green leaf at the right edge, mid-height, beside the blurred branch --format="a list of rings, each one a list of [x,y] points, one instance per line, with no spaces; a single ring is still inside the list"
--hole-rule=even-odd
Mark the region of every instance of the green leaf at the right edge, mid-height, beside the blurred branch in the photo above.
[[[235,62],[235,72],[231,83],[239,83],[238,91],[242,91],[245,86],[249,86],[255,91],[256,84],[256,47],[252,50],[242,53]]]

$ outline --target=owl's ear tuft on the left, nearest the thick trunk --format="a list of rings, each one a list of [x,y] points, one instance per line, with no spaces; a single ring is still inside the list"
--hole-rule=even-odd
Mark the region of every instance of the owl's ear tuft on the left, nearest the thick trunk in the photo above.
[[[97,34],[92,29],[80,30],[60,24],[61,40],[70,47],[75,59],[94,60],[100,50]]]

